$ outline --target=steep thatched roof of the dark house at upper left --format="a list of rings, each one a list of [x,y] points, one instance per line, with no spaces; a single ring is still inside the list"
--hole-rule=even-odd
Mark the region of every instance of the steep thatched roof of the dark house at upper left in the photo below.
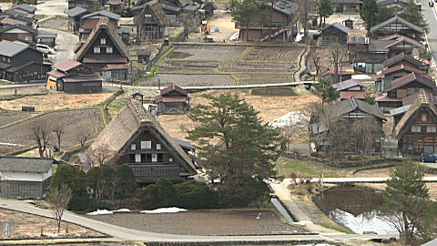
[[[105,16],[100,17],[100,21],[97,23],[97,26],[94,27],[93,31],[86,39],[85,44],[80,47],[79,51],[77,51],[75,56],[76,61],[80,61],[85,56],[86,51],[91,48],[97,36],[101,32],[107,32],[107,35],[109,36],[109,38],[111,38],[112,42],[114,42],[114,45],[117,47],[121,55],[124,56],[127,61],[130,60],[129,50],[127,49],[127,46],[123,43],[121,37],[117,35],[117,30],[114,29],[112,26],[108,25],[108,23],[109,18]]]

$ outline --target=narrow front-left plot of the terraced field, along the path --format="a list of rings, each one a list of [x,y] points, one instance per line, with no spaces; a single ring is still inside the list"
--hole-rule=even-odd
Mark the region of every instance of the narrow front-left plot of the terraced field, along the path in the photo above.
[[[235,85],[235,80],[230,75],[158,74],[157,77],[141,82],[141,86],[158,87],[158,79],[161,80],[161,87],[169,87],[172,84],[178,87]]]

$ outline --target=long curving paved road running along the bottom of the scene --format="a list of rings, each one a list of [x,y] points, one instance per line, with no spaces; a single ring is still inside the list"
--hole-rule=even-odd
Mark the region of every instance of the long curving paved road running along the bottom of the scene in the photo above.
[[[54,218],[51,210],[42,210],[21,200],[9,200],[0,198],[0,208],[8,210],[17,210],[26,213],[36,214],[48,218]],[[339,241],[339,240],[364,240],[368,241],[374,238],[391,238],[396,235],[361,235],[361,234],[344,234],[344,233],[324,233],[316,235],[272,235],[272,236],[188,236],[163,234],[147,231],[137,231],[107,224],[102,221],[91,220],[66,211],[63,220],[75,223],[80,226],[99,231],[109,236],[129,241]]]

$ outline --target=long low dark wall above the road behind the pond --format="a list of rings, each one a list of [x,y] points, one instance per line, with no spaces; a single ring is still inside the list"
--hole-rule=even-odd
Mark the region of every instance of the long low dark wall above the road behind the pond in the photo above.
[[[320,159],[320,158],[316,158],[316,157],[303,156],[303,155],[298,155],[298,154],[294,154],[294,153],[287,153],[287,154],[284,154],[284,156],[286,158],[290,158],[290,159],[318,162],[318,163],[322,163],[322,164],[325,164],[325,165],[328,165],[328,166],[331,166],[334,168],[339,168],[339,169],[364,167],[364,166],[370,166],[370,165],[384,163],[387,161],[393,161],[393,162],[401,162],[402,161],[402,159],[396,159],[396,158],[369,159],[369,160],[359,160],[359,161],[332,161],[332,160],[328,160],[328,159]]]

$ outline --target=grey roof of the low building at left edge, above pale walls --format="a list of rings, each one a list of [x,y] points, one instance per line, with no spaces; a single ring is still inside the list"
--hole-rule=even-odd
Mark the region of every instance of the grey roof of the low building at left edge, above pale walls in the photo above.
[[[46,173],[53,162],[43,158],[0,157],[0,171]]]

